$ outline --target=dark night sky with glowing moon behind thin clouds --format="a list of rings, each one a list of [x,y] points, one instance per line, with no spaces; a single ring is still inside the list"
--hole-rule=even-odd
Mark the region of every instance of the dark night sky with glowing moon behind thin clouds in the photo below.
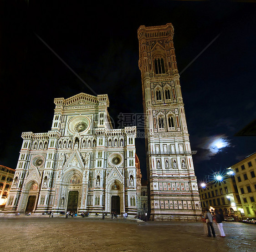
[[[198,179],[256,151],[255,136],[234,136],[256,118],[255,3],[6,0],[0,11],[1,165],[16,167],[23,131],[51,130],[54,98],[108,94],[115,128],[120,113],[143,113],[137,30],[166,23]],[[141,137],[136,152],[145,179]]]

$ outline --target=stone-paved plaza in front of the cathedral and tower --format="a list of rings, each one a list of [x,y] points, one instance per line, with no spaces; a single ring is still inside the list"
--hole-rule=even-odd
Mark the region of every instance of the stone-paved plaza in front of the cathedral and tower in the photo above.
[[[132,222],[82,217],[0,218],[0,251],[255,251],[256,225],[223,224],[206,237],[200,222]],[[218,229],[215,224],[215,231]]]

